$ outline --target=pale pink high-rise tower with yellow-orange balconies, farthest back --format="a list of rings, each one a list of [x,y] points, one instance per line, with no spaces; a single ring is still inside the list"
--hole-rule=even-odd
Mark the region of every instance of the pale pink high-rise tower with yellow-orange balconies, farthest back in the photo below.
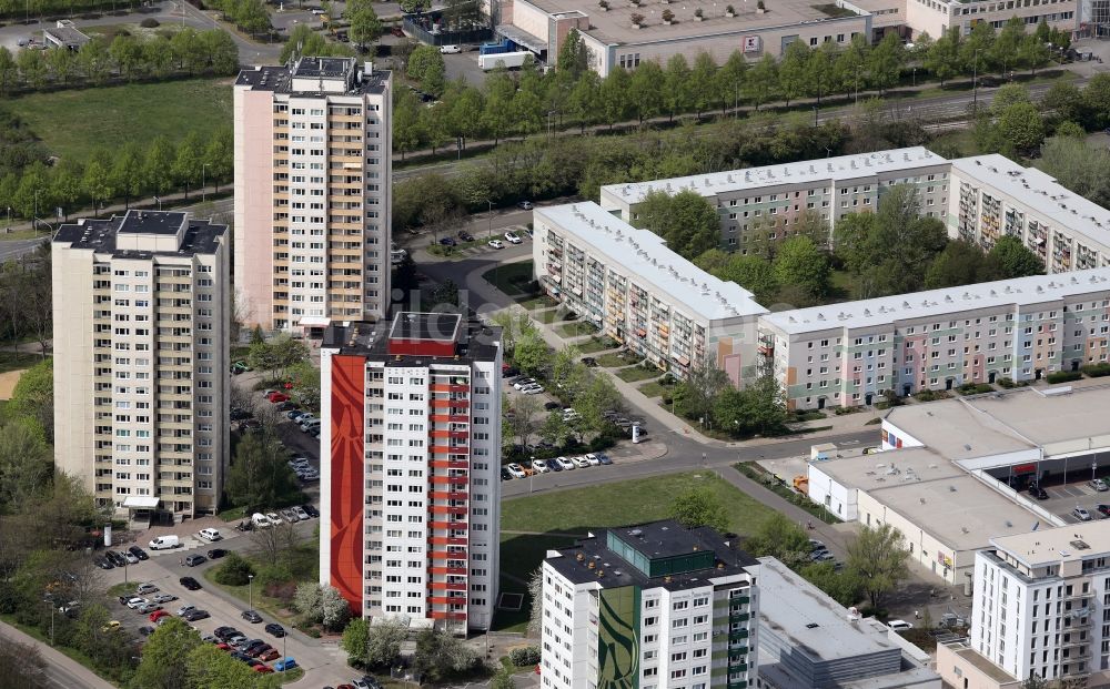
[[[319,333],[390,305],[392,77],[301,58],[235,82],[235,288],[248,323]]]

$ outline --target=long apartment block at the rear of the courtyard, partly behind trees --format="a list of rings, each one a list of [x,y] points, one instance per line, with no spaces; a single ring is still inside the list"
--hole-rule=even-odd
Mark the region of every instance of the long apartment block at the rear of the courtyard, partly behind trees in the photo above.
[[[884,190],[907,184],[917,192],[921,212],[947,215],[951,163],[922,148],[765,165],[729,172],[672,178],[602,188],[601,205],[639,223],[638,206],[652,192],[693,191],[717,206],[720,249],[765,253],[770,244],[796,232],[805,214],[819,214],[830,243],[836,221],[848,213],[874,211]]]

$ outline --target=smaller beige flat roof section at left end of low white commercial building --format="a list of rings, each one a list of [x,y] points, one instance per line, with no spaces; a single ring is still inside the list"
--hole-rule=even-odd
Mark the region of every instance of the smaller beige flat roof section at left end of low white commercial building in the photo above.
[[[963,476],[965,472],[931,447],[872,453],[809,463],[839,484],[870,493],[907,483]]]

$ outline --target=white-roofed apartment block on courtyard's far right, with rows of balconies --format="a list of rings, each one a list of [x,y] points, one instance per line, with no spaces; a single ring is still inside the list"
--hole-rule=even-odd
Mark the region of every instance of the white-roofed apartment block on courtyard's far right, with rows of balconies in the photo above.
[[[1110,266],[1110,211],[1003,155],[952,161],[949,234],[989,250],[1021,240],[1049,273]]]

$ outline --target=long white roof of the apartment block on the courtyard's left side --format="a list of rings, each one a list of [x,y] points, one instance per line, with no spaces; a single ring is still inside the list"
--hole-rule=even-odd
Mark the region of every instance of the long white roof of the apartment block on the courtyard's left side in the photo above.
[[[680,311],[706,321],[767,313],[740,285],[714,277],[673,252],[659,235],[633,227],[594,202],[537,207],[534,214],[594,247],[605,256],[606,267],[648,283],[656,296]]]

